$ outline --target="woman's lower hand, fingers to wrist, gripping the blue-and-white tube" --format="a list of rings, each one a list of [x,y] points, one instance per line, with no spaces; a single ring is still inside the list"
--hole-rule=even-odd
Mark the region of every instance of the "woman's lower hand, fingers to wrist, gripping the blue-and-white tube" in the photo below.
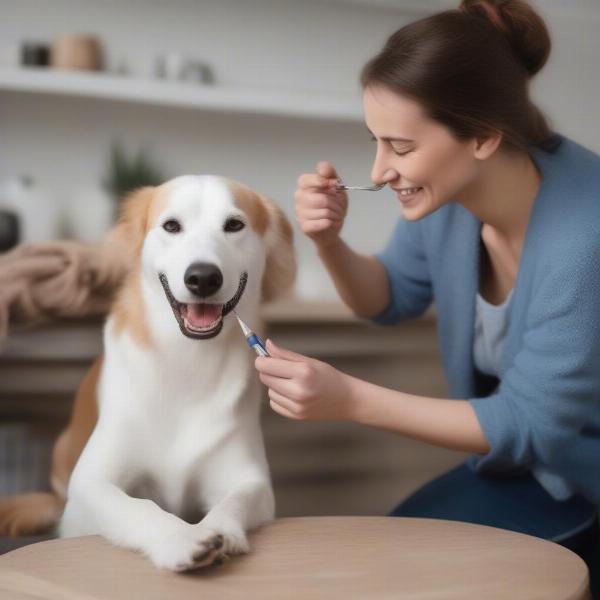
[[[331,365],[267,341],[270,358],[255,361],[271,408],[296,420],[350,419],[352,378]]]

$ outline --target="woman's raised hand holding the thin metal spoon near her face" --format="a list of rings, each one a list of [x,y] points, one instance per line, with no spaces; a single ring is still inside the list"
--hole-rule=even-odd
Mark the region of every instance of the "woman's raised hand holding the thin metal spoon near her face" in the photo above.
[[[328,162],[317,164],[316,173],[298,178],[294,194],[296,220],[317,246],[337,241],[348,211],[348,195],[338,191],[338,175]]]

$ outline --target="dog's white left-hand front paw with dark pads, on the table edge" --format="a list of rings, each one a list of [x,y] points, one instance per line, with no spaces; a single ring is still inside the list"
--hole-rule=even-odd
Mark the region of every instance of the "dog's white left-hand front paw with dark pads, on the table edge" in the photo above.
[[[223,546],[223,536],[219,533],[190,526],[157,539],[148,556],[159,569],[189,571],[221,562]]]

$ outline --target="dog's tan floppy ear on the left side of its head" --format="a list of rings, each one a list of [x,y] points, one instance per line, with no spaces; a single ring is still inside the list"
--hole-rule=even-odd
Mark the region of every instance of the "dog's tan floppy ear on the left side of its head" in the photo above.
[[[121,204],[117,224],[108,234],[106,243],[124,252],[128,259],[135,259],[142,252],[155,193],[156,188],[148,186],[127,194]]]

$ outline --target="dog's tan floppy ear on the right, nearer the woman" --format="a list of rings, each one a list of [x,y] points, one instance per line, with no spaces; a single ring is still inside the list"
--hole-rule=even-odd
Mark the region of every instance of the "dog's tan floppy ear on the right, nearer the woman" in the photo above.
[[[267,259],[262,280],[262,300],[269,302],[281,296],[296,278],[294,231],[285,213],[269,198],[260,195],[269,217],[265,242]]]

